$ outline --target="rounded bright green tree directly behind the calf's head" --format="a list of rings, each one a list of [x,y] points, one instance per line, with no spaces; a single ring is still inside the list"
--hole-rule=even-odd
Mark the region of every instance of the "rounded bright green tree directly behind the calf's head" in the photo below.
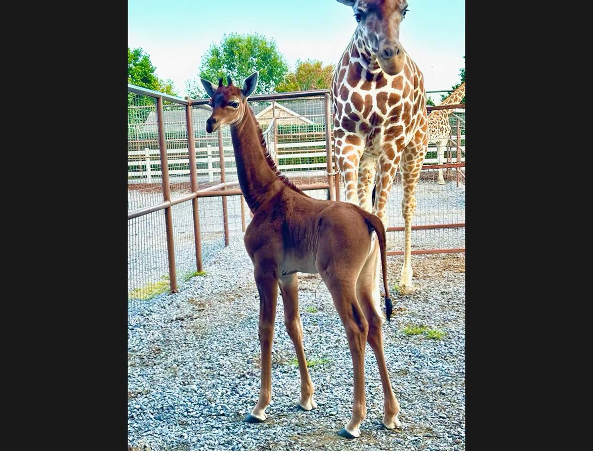
[[[199,77],[187,80],[186,89],[193,98],[208,97],[200,77],[218,84],[218,79],[227,80],[230,76],[235,85],[241,86],[243,80],[259,70],[255,94],[274,92],[282,82],[288,65],[276,47],[274,40],[260,34],[231,33],[222,36],[221,43],[212,43],[202,56]]]

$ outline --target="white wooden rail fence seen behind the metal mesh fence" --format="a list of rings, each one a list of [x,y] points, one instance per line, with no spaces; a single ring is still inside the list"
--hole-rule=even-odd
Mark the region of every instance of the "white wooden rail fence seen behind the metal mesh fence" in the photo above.
[[[454,137],[456,138],[456,137]],[[455,143],[455,139],[452,139]],[[465,139],[465,135],[461,139]],[[326,141],[313,141],[309,143],[278,143],[278,167],[282,172],[289,172],[295,169],[300,169],[300,173],[307,173],[307,175],[319,175],[319,172],[324,172],[326,167],[325,159],[318,163],[293,163],[290,159],[296,158],[314,158],[326,156]],[[314,149],[314,147],[323,147],[322,149]],[[232,146],[225,146],[225,152],[232,151]],[[466,147],[461,146],[462,152],[465,152]],[[429,147],[429,152],[436,152],[435,147]],[[167,149],[167,160],[169,165],[169,174],[188,175],[189,176],[189,153],[188,149]],[[287,161],[288,160],[288,161]],[[455,159],[457,160],[457,159]],[[461,162],[465,162],[466,158],[461,157]],[[219,147],[196,147],[196,163],[197,176],[199,179],[208,181],[218,181],[220,179],[220,150]],[[427,158],[424,160],[426,164],[436,164],[438,159]],[[128,179],[142,180],[146,183],[153,183],[153,178],[161,178],[160,169],[152,169],[152,166],[161,166],[160,153],[158,149],[144,149],[144,150],[129,150],[127,152],[127,176]],[[200,167],[206,165],[205,167]],[[138,166],[144,170],[136,169]],[[176,167],[183,167],[183,169],[176,169]],[[132,169],[132,167],[136,167]],[[236,174],[237,167],[235,167],[235,157],[225,157],[225,173],[228,175]],[[215,177],[216,175],[216,177]],[[155,181],[155,183],[158,181]]]

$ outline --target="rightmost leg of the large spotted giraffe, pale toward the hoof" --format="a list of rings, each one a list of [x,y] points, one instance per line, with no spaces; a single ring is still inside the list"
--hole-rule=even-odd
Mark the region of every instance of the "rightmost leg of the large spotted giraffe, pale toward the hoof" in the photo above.
[[[407,145],[401,154],[401,182],[403,184],[403,199],[401,209],[404,217],[404,264],[401,268],[400,293],[412,294],[412,218],[416,211],[416,198],[414,193],[420,179],[420,168],[426,156],[426,143],[414,140]]]

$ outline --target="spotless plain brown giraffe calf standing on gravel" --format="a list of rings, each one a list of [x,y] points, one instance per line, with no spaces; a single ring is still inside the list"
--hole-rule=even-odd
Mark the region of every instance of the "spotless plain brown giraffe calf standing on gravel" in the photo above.
[[[284,322],[297,353],[301,376],[299,405],[311,410],[314,386],[307,369],[302,346],[302,325],[298,310],[297,272],[319,273],[327,285],[344,324],[354,366],[354,403],[352,418],[339,434],[355,438],[366,417],[364,360],[366,342],[371,345],[381,375],[385,414],[382,423],[388,429],[399,426],[400,410],[389,380],[383,340],[380,305],[374,304],[372,289],[373,262],[377,246],[371,246],[372,232],[377,234],[381,250],[385,310],[391,315],[387,287],[385,230],[381,220],[358,205],[313,199],[280,174],[264,144],[262,129],[247,105],[255,90],[258,73],[250,75],[243,89],[219,80],[218,87],[202,79],[211,96],[212,115],[206,131],[221,125],[231,126],[237,174],[241,191],[253,212],[245,232],[245,247],[253,262],[253,273],[260,297],[259,340],[262,350],[262,381],[259,401],[247,416],[248,423],[266,420],[266,407],[272,395],[272,339],[276,316],[278,286],[284,304]]]

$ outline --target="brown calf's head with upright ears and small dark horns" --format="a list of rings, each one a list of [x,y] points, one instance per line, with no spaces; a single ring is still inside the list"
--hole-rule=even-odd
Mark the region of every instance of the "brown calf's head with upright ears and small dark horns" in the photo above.
[[[206,93],[211,97],[208,104],[212,107],[212,114],[206,121],[206,131],[212,133],[221,125],[234,124],[244,117],[247,107],[247,98],[256,90],[258,72],[252,73],[239,89],[227,77],[228,86],[222,85],[222,78],[218,80],[218,88],[201,78]]]

